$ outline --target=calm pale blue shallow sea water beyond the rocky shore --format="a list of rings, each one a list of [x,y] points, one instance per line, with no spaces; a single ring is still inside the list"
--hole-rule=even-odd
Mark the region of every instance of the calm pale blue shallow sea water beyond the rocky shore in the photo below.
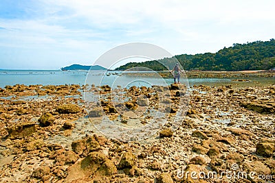
[[[156,75],[145,75],[140,72],[138,75],[124,75],[120,71],[60,71],[60,70],[0,70],[0,87],[15,84],[42,84],[42,85],[60,85],[60,84],[96,84],[96,86],[109,84],[109,86],[122,87],[130,86],[152,86],[152,85],[170,85],[173,78],[162,78]],[[134,72],[133,72],[134,73]],[[147,72],[148,73],[148,72]],[[105,74],[105,75],[104,75]],[[184,80],[181,77],[181,83],[192,85],[219,86],[222,84],[233,84],[242,86],[274,84],[273,77],[250,77],[250,82],[236,82],[232,78],[188,78]]]

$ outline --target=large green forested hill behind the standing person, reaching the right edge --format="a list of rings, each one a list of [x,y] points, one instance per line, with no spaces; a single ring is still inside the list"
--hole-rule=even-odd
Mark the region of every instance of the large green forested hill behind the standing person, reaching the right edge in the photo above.
[[[175,56],[185,70],[201,71],[243,71],[268,70],[275,67],[275,40],[255,41],[245,44],[234,43],[232,47],[223,48],[217,53],[203,53],[195,55],[182,54]],[[174,58],[174,60],[175,60]],[[169,69],[175,62],[173,58],[160,60]],[[167,70],[157,61],[129,62],[115,70],[126,70],[135,66],[144,66],[154,71]]]

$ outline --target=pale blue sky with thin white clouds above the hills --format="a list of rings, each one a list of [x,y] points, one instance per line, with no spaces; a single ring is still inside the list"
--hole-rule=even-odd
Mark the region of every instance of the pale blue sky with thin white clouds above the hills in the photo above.
[[[0,69],[91,65],[131,42],[172,55],[216,53],[275,38],[274,7],[274,0],[1,0]]]

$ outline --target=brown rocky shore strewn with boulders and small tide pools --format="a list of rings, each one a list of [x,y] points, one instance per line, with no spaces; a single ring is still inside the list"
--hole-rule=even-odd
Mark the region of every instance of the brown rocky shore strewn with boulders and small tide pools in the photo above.
[[[111,88],[92,87],[108,99]],[[0,88],[0,182],[275,182],[275,85],[192,86],[186,117],[173,129],[185,96],[178,87],[168,89],[168,125],[131,142],[96,130],[93,119],[102,114],[85,109],[89,86]],[[130,112],[158,102],[152,88],[124,90]],[[137,100],[141,94],[151,97]],[[127,123],[108,100],[100,106]]]

